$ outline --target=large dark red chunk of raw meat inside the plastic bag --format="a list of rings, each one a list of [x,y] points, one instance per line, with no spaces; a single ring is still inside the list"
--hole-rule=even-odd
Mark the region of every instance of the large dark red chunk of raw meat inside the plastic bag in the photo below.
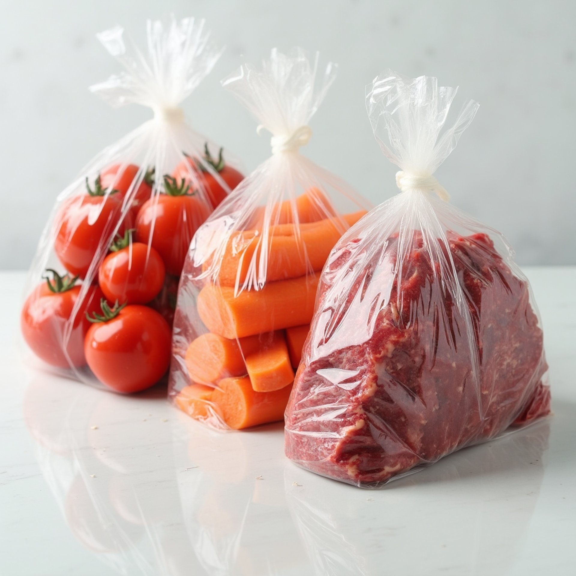
[[[400,274],[397,235],[369,258],[358,239],[332,252],[286,408],[291,460],[377,486],[550,412],[528,284],[486,234],[446,237],[454,268],[419,233]]]

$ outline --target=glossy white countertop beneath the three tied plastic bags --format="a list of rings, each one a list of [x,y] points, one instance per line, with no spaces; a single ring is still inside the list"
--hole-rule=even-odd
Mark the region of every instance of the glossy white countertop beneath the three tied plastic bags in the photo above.
[[[526,273],[554,416],[377,491],[295,467],[280,425],[216,433],[164,391],[33,369],[1,273],[0,574],[576,574],[576,268]]]

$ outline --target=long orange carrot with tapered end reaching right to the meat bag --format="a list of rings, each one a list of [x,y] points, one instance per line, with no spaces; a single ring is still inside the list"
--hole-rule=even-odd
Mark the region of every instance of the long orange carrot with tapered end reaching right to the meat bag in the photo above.
[[[345,214],[343,222],[339,218],[326,218],[298,226],[271,226],[267,240],[266,281],[298,278],[322,270],[344,230],[364,214],[364,210]],[[248,275],[256,279],[265,241],[262,234],[254,230],[234,234],[220,262],[219,283],[222,286],[235,286],[237,279],[243,283]]]

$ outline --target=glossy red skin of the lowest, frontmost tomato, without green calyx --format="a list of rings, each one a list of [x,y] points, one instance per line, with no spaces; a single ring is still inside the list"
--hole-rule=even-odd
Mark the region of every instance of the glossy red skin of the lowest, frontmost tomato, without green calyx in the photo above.
[[[98,380],[116,392],[150,388],[170,365],[172,334],[156,310],[128,305],[118,316],[90,326],[84,353]]]

